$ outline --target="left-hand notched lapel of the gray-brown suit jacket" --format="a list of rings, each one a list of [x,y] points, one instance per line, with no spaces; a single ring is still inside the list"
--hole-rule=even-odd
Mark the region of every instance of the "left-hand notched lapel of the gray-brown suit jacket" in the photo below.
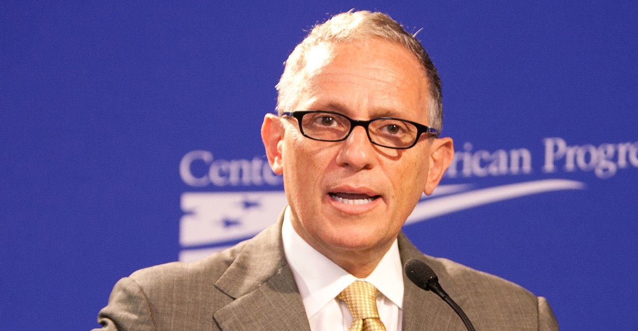
[[[251,239],[215,283],[235,299],[213,314],[221,330],[310,330],[283,253],[282,220]]]

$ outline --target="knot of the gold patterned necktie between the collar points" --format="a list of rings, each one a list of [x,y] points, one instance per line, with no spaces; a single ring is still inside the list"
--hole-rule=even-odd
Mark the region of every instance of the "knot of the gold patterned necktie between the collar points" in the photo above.
[[[379,318],[376,310],[376,287],[365,281],[354,281],[337,296],[343,300],[354,320]]]

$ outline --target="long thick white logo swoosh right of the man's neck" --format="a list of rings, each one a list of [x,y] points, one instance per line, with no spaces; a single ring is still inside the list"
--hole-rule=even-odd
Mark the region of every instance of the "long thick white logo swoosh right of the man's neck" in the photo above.
[[[447,195],[436,199],[419,202],[412,211],[406,224],[422,222],[436,216],[454,213],[492,202],[505,201],[525,195],[560,190],[582,190],[585,183],[573,180],[537,180],[524,183],[501,185],[499,187],[482,188],[470,192]]]

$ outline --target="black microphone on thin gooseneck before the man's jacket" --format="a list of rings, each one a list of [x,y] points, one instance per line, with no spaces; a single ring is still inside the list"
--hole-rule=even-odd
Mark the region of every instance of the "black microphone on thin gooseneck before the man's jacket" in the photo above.
[[[461,309],[461,307],[459,307],[459,305],[457,305],[456,302],[454,302],[454,300],[452,300],[452,298],[443,291],[443,288],[438,283],[438,277],[436,277],[436,274],[429,265],[421,260],[413,258],[405,263],[403,271],[405,271],[406,276],[408,276],[414,285],[417,285],[426,291],[436,293],[439,297],[441,297],[441,299],[443,299],[443,301],[447,302],[447,304],[454,309],[456,314],[459,315],[461,320],[463,320],[468,331],[474,331],[474,327],[472,326],[468,316],[463,313],[463,309]]]

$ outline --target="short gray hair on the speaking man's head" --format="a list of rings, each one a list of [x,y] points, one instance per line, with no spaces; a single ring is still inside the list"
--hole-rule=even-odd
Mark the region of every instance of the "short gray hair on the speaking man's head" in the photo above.
[[[432,60],[414,35],[406,32],[388,15],[370,11],[348,11],[335,15],[323,24],[315,25],[308,36],[295,47],[285,62],[283,74],[276,86],[279,115],[283,111],[294,110],[286,108],[291,106],[291,98],[299,93],[306,78],[303,69],[306,67],[306,54],[310,48],[321,44],[364,41],[371,37],[398,43],[419,60],[426,74],[431,96],[427,105],[429,125],[440,132],[443,124],[441,80]]]

